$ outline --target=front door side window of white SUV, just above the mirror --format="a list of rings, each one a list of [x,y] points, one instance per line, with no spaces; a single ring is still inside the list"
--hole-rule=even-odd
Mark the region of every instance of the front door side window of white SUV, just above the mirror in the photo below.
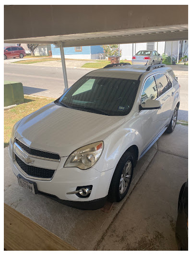
[[[147,78],[144,83],[144,88],[141,94],[141,103],[145,103],[147,99],[156,99],[158,98],[156,81],[154,76]]]

